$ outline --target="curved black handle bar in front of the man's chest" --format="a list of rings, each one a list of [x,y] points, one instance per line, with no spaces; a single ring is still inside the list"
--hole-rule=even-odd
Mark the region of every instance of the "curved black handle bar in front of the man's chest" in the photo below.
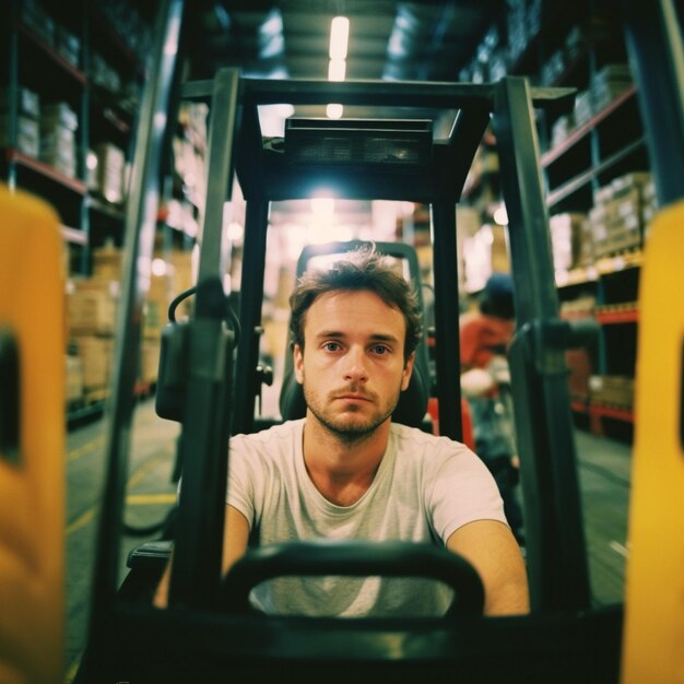
[[[456,595],[447,615],[481,615],[484,588],[462,556],[413,542],[309,541],[249,550],[233,565],[223,585],[222,603],[248,613],[249,592],[268,579],[285,576],[420,577],[439,580]]]

